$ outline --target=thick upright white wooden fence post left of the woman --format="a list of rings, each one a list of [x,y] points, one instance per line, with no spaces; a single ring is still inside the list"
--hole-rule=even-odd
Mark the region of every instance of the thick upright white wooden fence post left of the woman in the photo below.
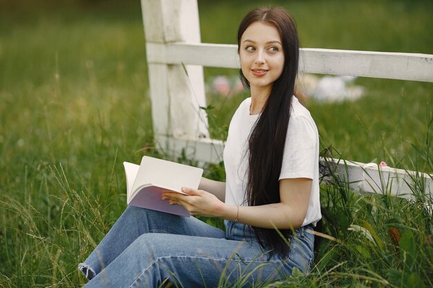
[[[147,59],[165,55],[165,49],[152,44],[201,42],[196,0],[141,0],[141,6]],[[206,105],[203,67],[149,63],[148,71],[157,145],[169,148],[167,137],[209,137],[207,115],[200,108]]]

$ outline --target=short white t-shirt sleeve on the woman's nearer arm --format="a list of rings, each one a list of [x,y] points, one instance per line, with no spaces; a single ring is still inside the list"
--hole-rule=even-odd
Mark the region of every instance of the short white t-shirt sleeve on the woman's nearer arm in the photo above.
[[[315,159],[318,137],[313,119],[303,115],[291,116],[288,122],[279,180],[285,178],[313,179],[315,161],[318,161]]]

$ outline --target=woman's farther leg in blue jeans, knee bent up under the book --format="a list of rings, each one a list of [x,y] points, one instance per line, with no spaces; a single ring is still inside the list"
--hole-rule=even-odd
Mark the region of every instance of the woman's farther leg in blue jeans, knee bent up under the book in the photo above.
[[[87,279],[98,275],[129,245],[145,233],[171,233],[224,238],[225,233],[194,217],[182,217],[129,206],[91,255],[78,265]]]

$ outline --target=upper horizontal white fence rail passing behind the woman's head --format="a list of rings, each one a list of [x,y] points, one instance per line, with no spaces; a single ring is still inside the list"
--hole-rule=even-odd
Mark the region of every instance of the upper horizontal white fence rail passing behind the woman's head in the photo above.
[[[237,46],[148,44],[150,63],[239,68]],[[433,55],[303,48],[300,72],[433,82]]]

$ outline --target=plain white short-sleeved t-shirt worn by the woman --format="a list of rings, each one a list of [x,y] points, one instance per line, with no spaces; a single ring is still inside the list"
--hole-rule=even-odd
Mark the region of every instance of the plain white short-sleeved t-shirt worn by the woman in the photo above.
[[[319,200],[319,135],[308,110],[292,97],[292,111],[288,122],[284,159],[279,180],[309,178],[313,180],[308,211],[302,226],[322,218]],[[248,137],[260,115],[250,115],[251,98],[245,99],[232,117],[224,148],[225,203],[248,206]]]

